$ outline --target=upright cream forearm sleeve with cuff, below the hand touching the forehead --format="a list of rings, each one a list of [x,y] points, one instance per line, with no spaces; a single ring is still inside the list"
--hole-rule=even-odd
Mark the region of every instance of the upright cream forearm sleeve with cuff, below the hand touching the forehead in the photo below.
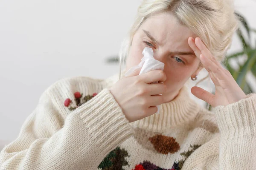
[[[215,107],[220,130],[219,169],[256,168],[256,94]]]

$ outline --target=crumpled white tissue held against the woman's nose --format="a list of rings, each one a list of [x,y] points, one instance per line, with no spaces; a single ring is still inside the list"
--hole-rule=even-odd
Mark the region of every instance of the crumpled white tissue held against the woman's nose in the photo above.
[[[148,71],[152,71],[152,70],[163,70],[164,69],[164,63],[154,59],[154,57],[153,57],[154,52],[153,52],[152,48],[149,48],[149,47],[144,48],[142,54],[144,55],[144,57],[141,59],[140,64],[130,68],[125,73],[125,77],[130,75],[137,68],[141,68],[140,74],[144,74],[144,73],[147,73]],[[153,82],[153,83],[158,83],[158,82]],[[157,106],[157,114],[159,114],[159,113],[160,113],[160,106]]]

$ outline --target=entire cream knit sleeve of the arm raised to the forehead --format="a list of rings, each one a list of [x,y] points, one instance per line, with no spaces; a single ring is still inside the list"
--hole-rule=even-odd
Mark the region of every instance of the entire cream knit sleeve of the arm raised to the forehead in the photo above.
[[[195,150],[182,170],[256,170],[256,94],[214,112],[220,133]]]

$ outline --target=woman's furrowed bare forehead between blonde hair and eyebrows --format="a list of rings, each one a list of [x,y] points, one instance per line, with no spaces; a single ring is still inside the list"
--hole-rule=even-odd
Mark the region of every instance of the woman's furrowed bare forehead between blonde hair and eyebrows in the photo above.
[[[150,32],[162,46],[189,47],[188,38],[197,37],[189,28],[180,24],[179,20],[170,13],[161,13],[149,17],[141,28]]]

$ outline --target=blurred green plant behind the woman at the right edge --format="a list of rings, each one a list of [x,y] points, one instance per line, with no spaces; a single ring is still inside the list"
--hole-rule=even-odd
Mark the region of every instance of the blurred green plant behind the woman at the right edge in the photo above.
[[[253,91],[246,81],[246,75],[249,71],[251,71],[252,74],[256,77],[256,48],[253,47],[251,43],[253,41],[251,34],[256,33],[256,30],[249,28],[247,20],[245,20],[241,14],[236,12],[236,15],[241,19],[241,24],[239,25],[236,33],[239,36],[241,44],[243,45],[243,49],[239,52],[228,55],[224,65],[226,65],[227,70],[230,71],[244,93],[248,94]],[[243,63],[237,62],[239,69],[232,68],[230,66],[230,61],[232,59],[236,59],[236,61],[238,61],[239,57],[244,57],[246,59]]]

